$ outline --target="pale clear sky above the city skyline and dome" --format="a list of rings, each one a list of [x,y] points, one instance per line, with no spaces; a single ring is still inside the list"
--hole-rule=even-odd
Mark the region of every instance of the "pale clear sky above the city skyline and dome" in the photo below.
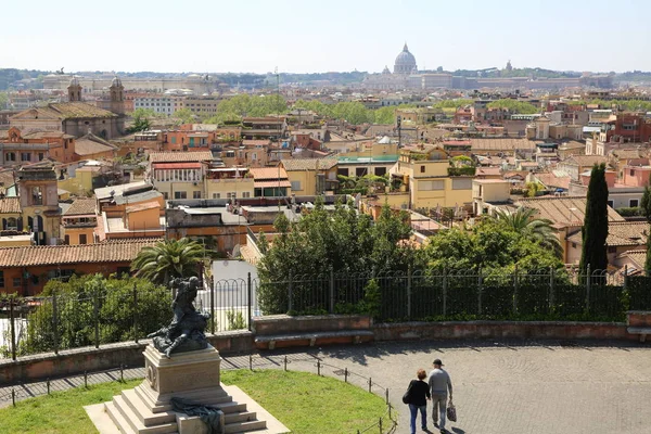
[[[648,0],[8,0],[0,67],[322,73],[651,71]]]

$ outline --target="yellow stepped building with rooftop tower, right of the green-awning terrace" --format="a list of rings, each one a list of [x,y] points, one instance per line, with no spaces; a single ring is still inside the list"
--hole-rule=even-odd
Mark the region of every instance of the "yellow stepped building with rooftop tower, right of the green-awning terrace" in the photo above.
[[[399,159],[391,170],[392,182],[406,187],[411,209],[470,208],[474,175],[454,176],[454,169],[443,150],[420,144],[400,151]]]

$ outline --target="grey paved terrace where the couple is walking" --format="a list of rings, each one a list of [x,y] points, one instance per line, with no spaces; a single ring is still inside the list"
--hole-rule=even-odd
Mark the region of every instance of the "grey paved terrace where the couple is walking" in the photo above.
[[[373,390],[388,387],[399,411],[397,433],[409,431],[407,406],[400,397],[418,368],[430,369],[443,359],[452,376],[459,421],[452,433],[651,433],[651,349],[641,344],[613,342],[487,341],[392,342],[362,346],[275,350],[255,354],[254,369],[288,369],[322,373]],[[248,368],[248,355],[224,357],[222,369]],[[341,370],[340,370],[341,368]],[[142,376],[142,368],[125,378]],[[89,375],[89,383],[111,381],[119,372]],[[365,379],[366,378],[366,379]],[[52,390],[79,386],[82,376],[52,382]],[[20,398],[46,393],[44,383],[15,386]],[[0,388],[2,398],[11,387]],[[427,409],[431,418],[431,408]],[[432,426],[430,426],[432,430]],[[372,431],[374,432],[374,431]]]

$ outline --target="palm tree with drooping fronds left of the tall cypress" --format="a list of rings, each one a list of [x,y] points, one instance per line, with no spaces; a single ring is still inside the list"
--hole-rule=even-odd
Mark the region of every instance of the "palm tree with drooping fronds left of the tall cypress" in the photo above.
[[[495,220],[507,228],[520,233],[523,237],[540,244],[544,247],[553,250],[558,257],[562,257],[563,248],[557,237],[557,231],[551,227],[551,220],[547,218],[537,218],[536,209],[520,207],[515,213],[498,209],[495,213]]]

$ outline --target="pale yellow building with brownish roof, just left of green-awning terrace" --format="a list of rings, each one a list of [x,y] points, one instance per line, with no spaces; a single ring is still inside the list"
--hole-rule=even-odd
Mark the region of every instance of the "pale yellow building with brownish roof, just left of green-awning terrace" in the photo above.
[[[336,179],[336,158],[294,158],[281,161],[292,184],[292,194],[314,196],[334,191]]]

